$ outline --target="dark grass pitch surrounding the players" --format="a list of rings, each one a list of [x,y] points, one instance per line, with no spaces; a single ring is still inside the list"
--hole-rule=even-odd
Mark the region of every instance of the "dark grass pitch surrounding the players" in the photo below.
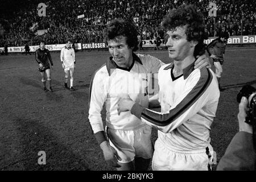
[[[166,51],[144,53],[168,63]],[[108,59],[108,51],[76,53],[75,91],[64,88],[60,53],[51,55],[52,93],[43,91],[35,55],[0,56],[0,169],[114,170],[104,162],[88,121],[90,79]],[[238,131],[238,91],[245,84],[256,86],[255,57],[255,47],[226,49],[221,78],[225,90],[210,132],[217,162]],[[39,151],[46,152],[46,165],[38,164]]]

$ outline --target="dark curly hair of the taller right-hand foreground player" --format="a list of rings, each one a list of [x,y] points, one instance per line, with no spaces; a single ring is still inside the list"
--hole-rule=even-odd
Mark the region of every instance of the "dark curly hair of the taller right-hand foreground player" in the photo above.
[[[185,31],[187,40],[198,42],[195,47],[194,56],[203,55],[205,53],[203,14],[197,11],[195,6],[183,5],[178,9],[172,9],[162,23],[166,31],[175,30],[175,28],[185,25],[187,25],[187,30]]]

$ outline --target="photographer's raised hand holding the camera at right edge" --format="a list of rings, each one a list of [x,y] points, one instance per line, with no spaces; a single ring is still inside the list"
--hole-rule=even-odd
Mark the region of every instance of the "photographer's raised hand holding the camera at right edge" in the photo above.
[[[248,109],[247,106],[248,106],[247,98],[242,97],[241,102],[239,104],[239,113],[237,114],[239,131],[245,131],[247,133],[253,134],[253,127],[245,122],[245,118],[247,116],[246,112]]]

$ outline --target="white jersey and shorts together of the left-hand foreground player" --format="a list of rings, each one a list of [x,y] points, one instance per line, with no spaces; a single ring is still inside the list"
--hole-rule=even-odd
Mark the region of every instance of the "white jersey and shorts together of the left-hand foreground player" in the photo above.
[[[97,136],[97,133],[105,131],[101,118],[102,106],[105,105],[108,140],[122,164],[131,163],[135,158],[151,159],[151,127],[130,111],[118,114],[117,103],[129,94],[135,102],[148,107],[147,79],[163,65],[162,61],[150,55],[133,53],[132,56],[133,63],[129,68],[118,67],[110,57],[95,73],[90,85],[89,121],[93,133]]]

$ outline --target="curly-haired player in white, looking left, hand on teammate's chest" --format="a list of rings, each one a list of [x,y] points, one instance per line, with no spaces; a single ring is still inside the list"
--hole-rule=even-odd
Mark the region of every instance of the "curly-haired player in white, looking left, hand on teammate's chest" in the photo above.
[[[168,53],[173,63],[159,69],[161,113],[131,99],[119,101],[119,111],[130,110],[143,123],[158,129],[153,170],[208,170],[213,149],[209,130],[218,105],[217,78],[207,68],[194,69],[205,52],[203,15],[195,6],[180,6],[164,19]],[[122,112],[121,112],[122,113]]]

